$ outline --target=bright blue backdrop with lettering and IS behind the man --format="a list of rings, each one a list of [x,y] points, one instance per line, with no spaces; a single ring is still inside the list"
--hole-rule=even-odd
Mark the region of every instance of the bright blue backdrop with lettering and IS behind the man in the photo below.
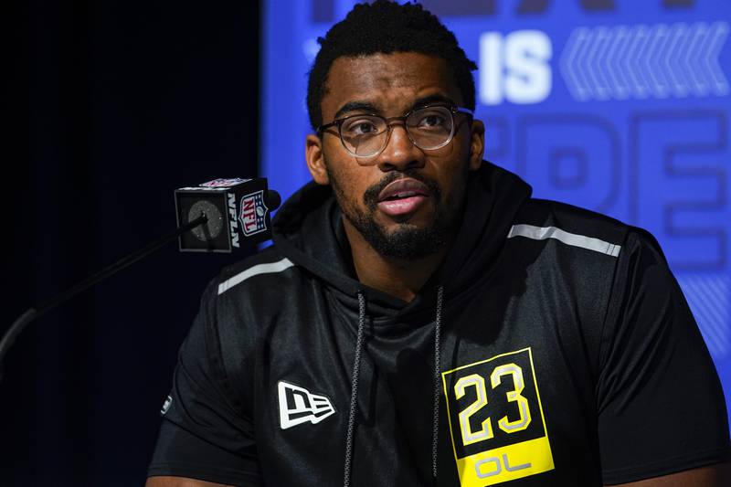
[[[265,0],[261,172],[310,179],[306,74],[352,0]],[[726,0],[422,0],[477,61],[486,158],[660,240],[731,405]],[[292,133],[295,135],[292,136]]]

